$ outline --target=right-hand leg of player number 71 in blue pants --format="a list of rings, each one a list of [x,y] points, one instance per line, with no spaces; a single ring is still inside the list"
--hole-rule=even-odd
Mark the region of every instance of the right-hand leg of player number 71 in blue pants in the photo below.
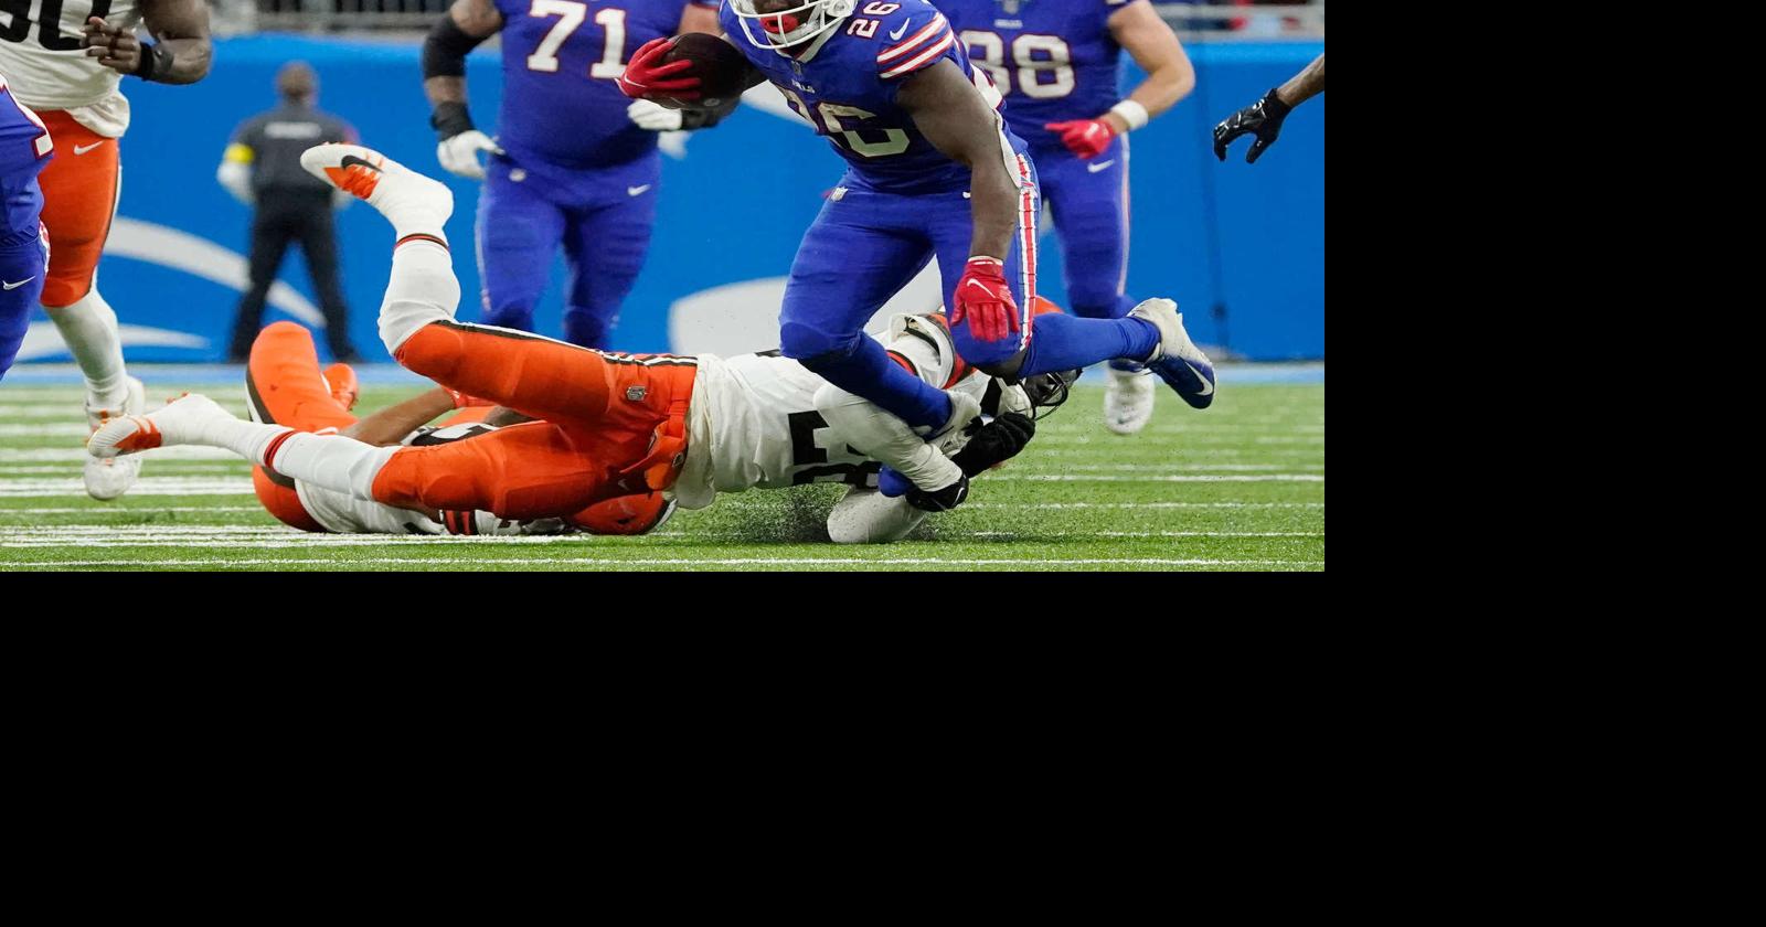
[[[655,185],[638,196],[616,191],[622,200],[595,210],[574,212],[563,247],[570,268],[563,307],[563,339],[585,348],[606,348],[620,320],[620,304],[632,291],[650,249],[657,221]]]

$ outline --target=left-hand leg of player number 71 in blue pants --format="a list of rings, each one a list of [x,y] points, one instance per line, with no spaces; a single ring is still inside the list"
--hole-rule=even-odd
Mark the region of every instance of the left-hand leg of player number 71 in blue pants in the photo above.
[[[484,325],[532,332],[533,307],[546,291],[553,256],[563,240],[563,210],[526,171],[493,157],[479,194],[475,231]]]

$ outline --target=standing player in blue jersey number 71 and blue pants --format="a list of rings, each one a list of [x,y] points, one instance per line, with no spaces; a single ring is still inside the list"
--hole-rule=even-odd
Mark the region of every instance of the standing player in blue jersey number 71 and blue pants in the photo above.
[[[533,305],[563,245],[563,339],[606,346],[645,263],[662,177],[657,132],[717,117],[630,101],[613,81],[630,49],[678,32],[715,32],[715,0],[456,0],[424,39],[424,92],[436,157],[484,180],[479,277],[484,323],[533,330]],[[466,53],[503,42],[496,141],[466,111]],[[489,162],[480,164],[479,155]]]

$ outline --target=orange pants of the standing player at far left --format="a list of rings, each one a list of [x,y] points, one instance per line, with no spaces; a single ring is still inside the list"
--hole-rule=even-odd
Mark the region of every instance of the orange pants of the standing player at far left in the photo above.
[[[55,159],[42,168],[42,224],[49,230],[49,274],[42,304],[71,305],[92,290],[92,277],[117,215],[122,157],[117,139],[74,122],[62,109],[42,109],[55,139]]]

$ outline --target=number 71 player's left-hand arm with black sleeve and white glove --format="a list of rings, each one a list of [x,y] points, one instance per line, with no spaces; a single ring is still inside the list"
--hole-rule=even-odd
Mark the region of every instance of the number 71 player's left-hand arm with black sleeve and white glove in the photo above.
[[[503,14],[491,0],[454,0],[424,37],[424,95],[433,108],[429,125],[440,138],[436,161],[449,173],[472,180],[484,180],[479,152],[503,150],[466,111],[466,55],[502,28]]]

